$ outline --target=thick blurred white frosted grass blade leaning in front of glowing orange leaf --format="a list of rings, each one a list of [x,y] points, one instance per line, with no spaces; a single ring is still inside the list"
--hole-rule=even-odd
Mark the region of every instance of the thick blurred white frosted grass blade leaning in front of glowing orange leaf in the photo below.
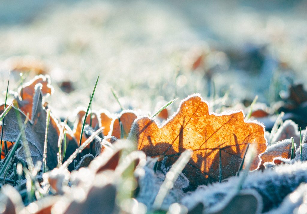
[[[163,181],[156,199],[153,202],[154,209],[158,210],[161,208],[165,196],[168,194],[169,190],[173,188],[174,182],[177,180],[179,174],[190,160],[192,153],[193,152],[189,149],[185,150],[178,160],[176,160],[176,162],[172,165],[172,168],[166,173],[165,180]]]

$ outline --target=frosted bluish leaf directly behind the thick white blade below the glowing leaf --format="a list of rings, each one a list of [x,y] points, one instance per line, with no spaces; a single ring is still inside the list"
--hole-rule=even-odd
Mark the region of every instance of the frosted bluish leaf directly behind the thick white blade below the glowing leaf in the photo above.
[[[165,180],[165,174],[160,171],[155,173],[153,171],[153,166],[154,162],[151,161],[147,162],[147,165],[144,167],[145,176],[139,180],[140,192],[136,198],[139,202],[147,206],[148,211],[152,209],[153,202],[157,196],[160,186]],[[185,196],[182,189],[186,188],[187,186],[187,179],[180,174],[175,181],[173,188],[170,189],[169,194],[165,197],[161,208],[167,210],[171,204],[179,202],[181,198]]]

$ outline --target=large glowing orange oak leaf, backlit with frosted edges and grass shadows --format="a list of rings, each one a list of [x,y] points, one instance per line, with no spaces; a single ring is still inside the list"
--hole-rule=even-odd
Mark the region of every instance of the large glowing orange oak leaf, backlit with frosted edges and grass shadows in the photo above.
[[[219,180],[219,147],[222,179],[238,171],[248,143],[256,144],[258,154],[266,149],[261,125],[245,122],[242,112],[209,114],[207,103],[199,95],[183,100],[177,113],[161,128],[148,117],[136,120],[130,138],[147,156],[168,157],[169,165],[185,149],[192,149],[192,158],[183,170],[192,185]]]

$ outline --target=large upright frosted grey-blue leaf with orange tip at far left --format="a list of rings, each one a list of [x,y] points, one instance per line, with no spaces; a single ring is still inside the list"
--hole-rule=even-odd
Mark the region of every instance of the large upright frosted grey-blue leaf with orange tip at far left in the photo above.
[[[36,78],[35,80],[38,80],[38,78]],[[20,114],[21,122],[24,122],[26,118],[25,113],[28,113],[26,111],[31,109],[30,111],[32,116],[30,117],[30,120],[25,127],[25,138],[29,143],[29,149],[34,164],[37,162],[37,160],[43,159],[46,117],[47,117],[47,111],[45,107],[42,105],[43,85],[40,82],[34,85],[33,82],[35,82],[35,80],[32,81],[31,84],[26,84],[25,86],[26,90],[24,90],[26,92],[25,93],[26,97],[29,97],[34,89],[33,97],[31,98],[32,103],[30,104],[29,102],[22,102],[24,100],[17,101],[17,103],[20,104],[19,107],[21,110],[12,107],[10,111],[7,113],[6,120],[3,124],[4,128],[3,140],[15,142],[19,134],[19,125],[18,125],[16,112]],[[24,108],[25,106],[23,105],[25,105],[26,108]],[[30,108],[29,106],[32,107]],[[0,131],[1,129],[2,126],[0,126]],[[48,129],[48,144],[47,144],[47,165],[50,169],[55,168],[57,165],[57,153],[58,153],[57,141],[59,138],[59,134],[60,134],[59,124],[55,119],[55,117],[52,114],[50,114],[50,122]],[[64,145],[62,144],[62,147],[63,146]],[[69,141],[67,144],[66,155],[69,157],[71,155],[71,151],[74,151],[76,148],[77,148],[76,142]],[[26,162],[23,142],[22,146],[16,151],[16,157]]]

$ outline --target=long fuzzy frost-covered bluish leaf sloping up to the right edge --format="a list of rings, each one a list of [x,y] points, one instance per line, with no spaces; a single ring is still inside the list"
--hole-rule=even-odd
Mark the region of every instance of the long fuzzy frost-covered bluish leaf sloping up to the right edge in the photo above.
[[[231,177],[227,182],[199,186],[195,192],[188,193],[181,202],[192,209],[199,202],[204,208],[213,207],[234,191],[240,177]],[[307,182],[307,162],[297,161],[293,164],[282,164],[264,172],[254,171],[247,175],[242,189],[255,189],[263,199],[263,211],[277,207],[282,200],[302,182]]]

